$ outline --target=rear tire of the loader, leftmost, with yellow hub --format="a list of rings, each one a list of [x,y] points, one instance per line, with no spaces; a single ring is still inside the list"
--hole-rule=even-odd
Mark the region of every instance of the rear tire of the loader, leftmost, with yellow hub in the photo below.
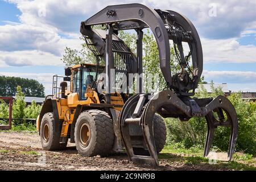
[[[44,150],[64,150],[67,147],[68,140],[65,143],[60,143],[60,130],[60,123],[55,121],[53,113],[43,115],[40,138]]]

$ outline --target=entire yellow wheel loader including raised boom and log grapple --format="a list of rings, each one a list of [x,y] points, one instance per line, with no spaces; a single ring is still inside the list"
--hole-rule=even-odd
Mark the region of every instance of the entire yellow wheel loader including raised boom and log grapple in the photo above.
[[[155,66],[166,81],[166,88],[154,93],[143,91],[144,28],[155,37],[159,50]],[[136,55],[118,37],[122,30],[137,32]],[[133,162],[159,165],[158,153],[166,143],[163,118],[205,117],[204,156],[210,152],[214,130],[225,126],[230,128],[227,157],[232,158],[238,136],[233,105],[224,96],[192,97],[203,72],[203,51],[187,17],[137,3],[114,5],[81,22],[80,32],[96,64],[75,65],[65,69],[65,77],[53,76],[52,95],[46,97],[36,121],[44,150],[62,150],[70,139],[84,156],[105,156],[125,147]],[[173,75],[170,46],[179,68]]]

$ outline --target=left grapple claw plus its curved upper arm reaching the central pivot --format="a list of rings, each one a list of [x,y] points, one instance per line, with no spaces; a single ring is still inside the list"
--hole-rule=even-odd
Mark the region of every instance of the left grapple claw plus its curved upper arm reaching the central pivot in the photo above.
[[[142,99],[142,97],[144,98]],[[190,115],[190,107],[185,105],[171,90],[164,90],[156,94],[137,94],[127,100],[123,106],[120,115],[120,129],[130,160],[137,163],[159,165],[153,133],[153,118],[155,113],[165,117],[166,115],[162,113],[166,111],[164,108],[167,110],[172,110],[172,108],[176,108],[177,111],[184,110],[181,111],[182,114]],[[168,113],[168,111],[166,112]],[[138,113],[140,114],[138,115]],[[134,152],[134,148],[138,146],[138,141],[134,141],[131,133],[138,127],[142,131],[141,140],[142,143],[144,142],[144,148],[148,151],[147,155],[136,155]]]

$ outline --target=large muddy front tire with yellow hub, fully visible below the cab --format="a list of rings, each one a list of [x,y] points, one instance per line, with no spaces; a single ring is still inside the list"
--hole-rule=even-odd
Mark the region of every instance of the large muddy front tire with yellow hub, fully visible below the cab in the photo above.
[[[83,111],[77,118],[75,143],[77,151],[83,156],[110,154],[114,144],[114,129],[108,113],[102,110]]]

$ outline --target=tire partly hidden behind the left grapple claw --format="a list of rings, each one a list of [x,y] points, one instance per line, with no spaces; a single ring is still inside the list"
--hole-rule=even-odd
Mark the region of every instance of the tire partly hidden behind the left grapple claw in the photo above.
[[[163,150],[164,145],[166,144],[166,123],[160,115],[154,115],[154,140],[156,152]],[[148,150],[144,150],[144,148],[133,148],[135,155],[150,155]]]

